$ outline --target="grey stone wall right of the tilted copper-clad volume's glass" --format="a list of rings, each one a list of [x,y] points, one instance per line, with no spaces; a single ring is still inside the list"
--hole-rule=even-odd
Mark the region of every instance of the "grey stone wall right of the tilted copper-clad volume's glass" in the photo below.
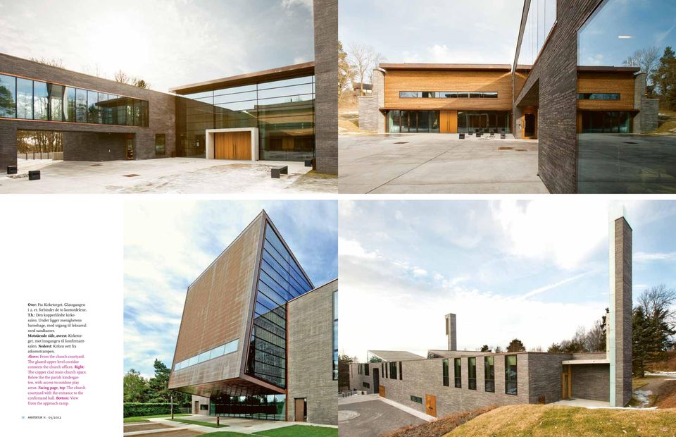
[[[338,423],[338,380],[333,379],[333,292],[338,280],[289,302],[287,321],[287,411],[295,398],[307,399],[308,421]]]

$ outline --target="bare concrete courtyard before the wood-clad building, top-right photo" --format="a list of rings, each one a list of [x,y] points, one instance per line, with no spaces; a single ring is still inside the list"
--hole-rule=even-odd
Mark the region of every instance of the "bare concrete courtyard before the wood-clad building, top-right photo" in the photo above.
[[[537,140],[457,134],[342,135],[342,193],[546,193]]]

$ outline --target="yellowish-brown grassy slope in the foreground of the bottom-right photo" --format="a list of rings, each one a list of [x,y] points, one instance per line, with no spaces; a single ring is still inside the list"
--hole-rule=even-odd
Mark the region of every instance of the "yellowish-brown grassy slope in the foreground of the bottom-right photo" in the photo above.
[[[676,409],[589,410],[553,405],[510,405],[481,414],[446,436],[676,437]]]

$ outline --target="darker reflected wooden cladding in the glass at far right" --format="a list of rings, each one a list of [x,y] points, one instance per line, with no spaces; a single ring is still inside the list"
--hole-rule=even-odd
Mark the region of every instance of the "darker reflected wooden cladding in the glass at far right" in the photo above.
[[[577,92],[620,93],[620,100],[578,100],[577,106],[588,111],[632,111],[634,109],[634,73],[581,72]]]

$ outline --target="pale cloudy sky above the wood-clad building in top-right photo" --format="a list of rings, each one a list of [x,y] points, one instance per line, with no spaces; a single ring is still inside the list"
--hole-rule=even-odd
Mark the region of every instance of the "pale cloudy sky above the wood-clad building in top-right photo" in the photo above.
[[[340,0],[345,49],[367,44],[387,62],[513,63],[518,0]]]

